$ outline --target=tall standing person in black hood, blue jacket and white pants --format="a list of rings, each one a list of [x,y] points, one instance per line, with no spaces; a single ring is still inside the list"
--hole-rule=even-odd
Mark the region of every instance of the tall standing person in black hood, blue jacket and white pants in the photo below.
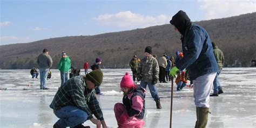
[[[206,127],[209,112],[210,92],[218,66],[213,55],[211,39],[206,30],[190,21],[186,12],[180,10],[170,21],[174,29],[181,33],[184,57],[170,73],[187,69],[194,84],[194,103],[197,111],[197,127]]]

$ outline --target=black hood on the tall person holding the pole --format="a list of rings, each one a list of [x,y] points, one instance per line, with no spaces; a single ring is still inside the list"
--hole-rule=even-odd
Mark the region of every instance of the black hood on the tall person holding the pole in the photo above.
[[[190,18],[187,16],[186,12],[180,10],[172,17],[170,23],[179,30],[181,35],[184,35],[187,25],[190,24]]]

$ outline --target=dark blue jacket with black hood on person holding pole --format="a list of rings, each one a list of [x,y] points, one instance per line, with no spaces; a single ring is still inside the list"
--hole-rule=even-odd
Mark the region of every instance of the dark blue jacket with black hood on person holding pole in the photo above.
[[[184,57],[176,67],[187,69],[191,80],[207,73],[217,72],[218,66],[213,55],[211,39],[206,30],[192,22],[186,12],[179,11],[170,21],[181,33]]]

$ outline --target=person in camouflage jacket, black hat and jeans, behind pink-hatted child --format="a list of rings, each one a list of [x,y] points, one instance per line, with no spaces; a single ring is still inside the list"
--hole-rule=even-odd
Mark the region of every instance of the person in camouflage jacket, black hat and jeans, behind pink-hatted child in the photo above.
[[[156,102],[157,109],[161,109],[160,98],[156,89],[158,82],[159,66],[157,59],[152,56],[151,46],[147,46],[145,49],[145,57],[138,66],[137,80],[140,81],[140,86],[146,89],[149,85],[149,90],[152,98]]]

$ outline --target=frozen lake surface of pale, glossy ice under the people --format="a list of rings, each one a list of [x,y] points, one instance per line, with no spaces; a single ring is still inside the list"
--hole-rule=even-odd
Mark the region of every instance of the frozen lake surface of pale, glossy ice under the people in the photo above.
[[[47,80],[50,90],[40,90],[40,79],[32,79],[30,70],[0,70],[0,127],[52,127],[58,118],[49,104],[60,86],[60,73],[51,70],[52,78]],[[97,96],[109,127],[117,127],[113,106],[122,102],[119,83],[130,69],[103,69],[104,95]],[[81,73],[84,73],[83,70]],[[220,74],[224,93],[210,97],[210,111],[207,127],[256,127],[256,68],[224,68]],[[144,127],[169,127],[171,83],[156,85],[162,109],[156,109],[149,89],[146,93],[146,116]],[[196,106],[193,89],[173,90],[172,127],[194,127]],[[90,121],[84,123],[91,127]]]

